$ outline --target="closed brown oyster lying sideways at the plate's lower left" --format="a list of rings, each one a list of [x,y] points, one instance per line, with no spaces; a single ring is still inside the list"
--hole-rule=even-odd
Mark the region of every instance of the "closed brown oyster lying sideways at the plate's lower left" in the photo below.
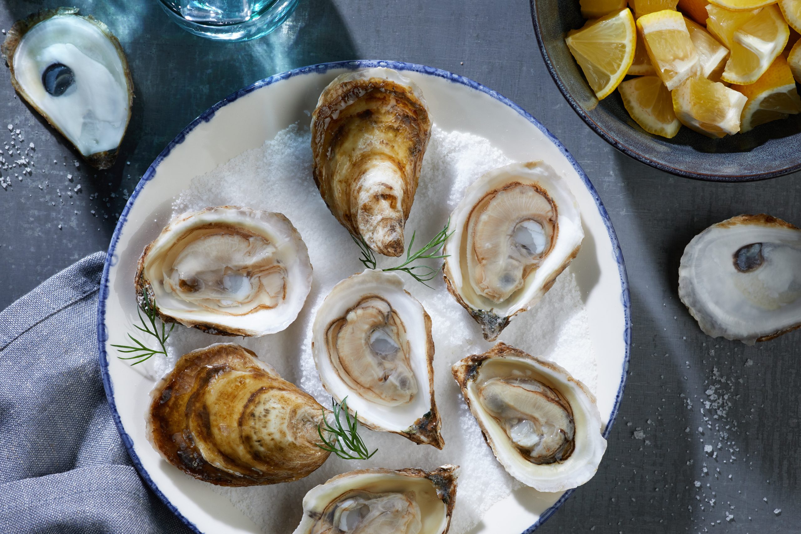
[[[219,486],[277,484],[328,458],[324,408],[252,351],[216,343],[181,356],[151,391],[147,439],[170,464]]]

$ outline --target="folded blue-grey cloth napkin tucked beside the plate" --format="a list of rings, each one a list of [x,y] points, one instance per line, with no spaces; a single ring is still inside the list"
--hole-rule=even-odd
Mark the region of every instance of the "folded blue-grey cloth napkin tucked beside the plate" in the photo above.
[[[191,532],[139,478],[111,420],[97,252],[0,312],[0,532]]]

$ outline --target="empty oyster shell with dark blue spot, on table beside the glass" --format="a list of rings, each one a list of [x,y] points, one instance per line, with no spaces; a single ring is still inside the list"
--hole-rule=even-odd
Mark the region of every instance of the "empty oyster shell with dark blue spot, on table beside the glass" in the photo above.
[[[134,84],[108,27],[74,7],[42,10],[15,22],[0,48],[20,96],[93,167],[111,167]]]

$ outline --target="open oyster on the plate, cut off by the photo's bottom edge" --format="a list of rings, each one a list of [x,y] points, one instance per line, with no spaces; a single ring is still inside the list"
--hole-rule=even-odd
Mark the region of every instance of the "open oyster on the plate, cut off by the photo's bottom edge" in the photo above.
[[[304,497],[294,534],[445,534],[459,468],[361,469],[335,476]]]

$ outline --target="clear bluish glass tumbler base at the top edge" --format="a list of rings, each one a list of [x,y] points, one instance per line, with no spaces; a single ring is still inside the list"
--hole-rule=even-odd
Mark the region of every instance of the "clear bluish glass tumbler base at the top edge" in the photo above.
[[[159,0],[170,18],[191,34],[220,41],[248,41],[269,34],[299,0]]]

